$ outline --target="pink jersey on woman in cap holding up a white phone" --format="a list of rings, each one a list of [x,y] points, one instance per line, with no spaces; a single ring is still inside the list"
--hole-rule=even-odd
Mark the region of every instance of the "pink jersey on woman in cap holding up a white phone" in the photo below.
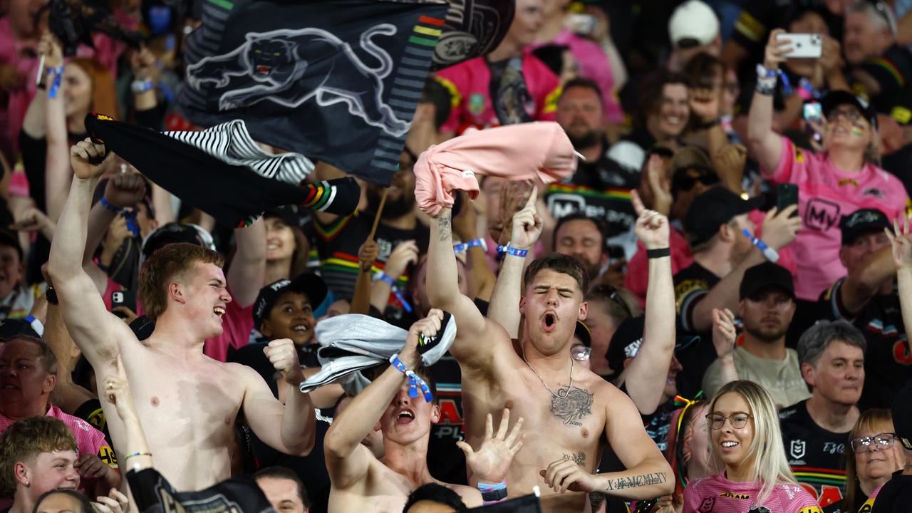
[[[772,171],[763,170],[773,183],[798,185],[798,214],[802,230],[793,248],[798,266],[795,296],[816,301],[820,293],[845,276],[839,261],[842,236],[839,220],[860,208],[876,208],[890,219],[903,215],[906,188],[896,176],[866,164],[860,173],[836,168],[825,153],[796,148],[782,137],[782,158]]]

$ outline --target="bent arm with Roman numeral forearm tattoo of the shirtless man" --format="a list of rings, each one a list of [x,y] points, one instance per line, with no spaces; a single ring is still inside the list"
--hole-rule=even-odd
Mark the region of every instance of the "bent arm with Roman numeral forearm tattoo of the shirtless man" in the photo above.
[[[605,413],[608,445],[627,470],[593,475],[574,460],[562,458],[539,472],[545,485],[558,493],[603,493],[627,500],[669,495],[675,487],[674,474],[643,429],[637,407],[617,389],[606,392],[612,395]]]

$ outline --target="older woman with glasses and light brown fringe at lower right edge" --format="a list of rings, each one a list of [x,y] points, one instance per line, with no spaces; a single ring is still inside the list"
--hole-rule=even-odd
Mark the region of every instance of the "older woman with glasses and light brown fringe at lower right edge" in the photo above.
[[[893,415],[886,409],[875,408],[861,414],[849,437],[853,455],[845,460],[845,498],[841,510],[855,513],[874,505],[877,490],[903,467],[905,455],[902,447],[895,444]]]

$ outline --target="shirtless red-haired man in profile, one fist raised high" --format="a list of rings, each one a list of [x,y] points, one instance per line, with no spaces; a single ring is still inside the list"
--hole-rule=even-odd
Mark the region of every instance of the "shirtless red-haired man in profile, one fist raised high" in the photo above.
[[[121,352],[150,452],[161,474],[178,490],[199,490],[229,477],[234,419],[243,409],[254,433],[289,455],[314,445],[316,418],[310,397],[297,390],[304,379],[292,340],[264,349],[281,372],[288,393],[283,405],[256,372],[202,353],[203,341],[222,333],[225,305],[223,259],[200,246],[174,244],[153,254],[140,270],[140,300],[155,331],[141,343],[110,314],[82,268],[92,191],[104,165],[89,159],[104,146],[88,139],[70,149],[76,173],[51,246],[48,272],[67,329],[95,369],[98,382],[117,373]],[[120,344],[120,345],[119,345]],[[120,351],[122,348],[123,351]],[[124,453],[124,426],[115,406],[101,399],[115,451]]]

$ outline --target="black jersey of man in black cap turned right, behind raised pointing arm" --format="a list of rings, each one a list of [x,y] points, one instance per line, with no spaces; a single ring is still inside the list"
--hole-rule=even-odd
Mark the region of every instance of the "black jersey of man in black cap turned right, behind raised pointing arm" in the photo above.
[[[712,345],[710,332],[693,329],[693,309],[720,281],[720,277],[697,262],[681,269],[674,277],[678,334],[700,338],[675,353],[682,367],[678,380],[679,393],[686,397],[693,397],[700,391],[703,374],[716,360],[716,350]]]

